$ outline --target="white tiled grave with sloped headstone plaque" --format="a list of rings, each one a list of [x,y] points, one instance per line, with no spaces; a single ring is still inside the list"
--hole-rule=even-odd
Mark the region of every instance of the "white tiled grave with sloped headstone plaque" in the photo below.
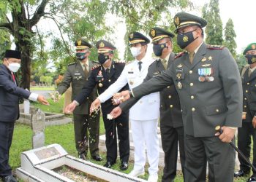
[[[16,174],[23,181],[72,182],[74,180],[57,173],[59,167],[70,167],[89,174],[90,178],[95,177],[96,181],[146,182],[143,179],[72,157],[59,144],[24,151],[20,159],[21,167],[16,170]]]

